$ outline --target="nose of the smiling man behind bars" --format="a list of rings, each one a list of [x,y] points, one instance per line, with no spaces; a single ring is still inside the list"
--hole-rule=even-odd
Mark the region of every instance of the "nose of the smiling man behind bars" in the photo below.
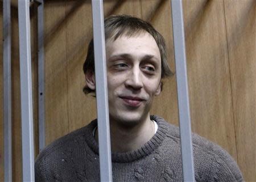
[[[126,78],[125,86],[131,87],[134,90],[139,90],[142,88],[142,74],[139,67],[134,67],[130,70],[130,74],[128,75],[128,78]]]

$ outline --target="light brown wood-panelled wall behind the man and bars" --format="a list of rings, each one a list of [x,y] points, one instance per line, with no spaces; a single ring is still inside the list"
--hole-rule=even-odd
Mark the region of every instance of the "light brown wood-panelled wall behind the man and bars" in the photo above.
[[[18,2],[11,0],[13,181],[22,181]],[[38,147],[36,3],[31,3],[35,157]],[[2,28],[2,1],[0,1]],[[175,72],[170,0],[104,1],[104,14],[150,21],[166,39]],[[183,1],[192,131],[223,147],[246,181],[256,181],[256,1]],[[82,92],[82,64],[92,38],[90,1],[45,0],[46,143],[96,118],[96,100]],[[0,31],[2,40],[2,31]],[[0,42],[0,181],[3,181],[3,44]],[[178,125],[175,76],[164,81],[152,114]]]

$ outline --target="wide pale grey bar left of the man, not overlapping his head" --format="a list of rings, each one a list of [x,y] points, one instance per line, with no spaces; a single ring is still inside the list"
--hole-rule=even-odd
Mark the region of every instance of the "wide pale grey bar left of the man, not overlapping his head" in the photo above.
[[[23,181],[35,181],[30,48],[30,1],[18,1]]]

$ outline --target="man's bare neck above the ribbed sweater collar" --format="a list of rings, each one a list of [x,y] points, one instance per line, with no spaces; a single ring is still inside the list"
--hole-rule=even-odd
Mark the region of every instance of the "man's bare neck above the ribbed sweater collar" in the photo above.
[[[137,150],[148,142],[155,134],[154,122],[150,116],[133,126],[124,126],[116,121],[110,121],[111,150],[124,153]],[[98,135],[96,132],[96,141]]]

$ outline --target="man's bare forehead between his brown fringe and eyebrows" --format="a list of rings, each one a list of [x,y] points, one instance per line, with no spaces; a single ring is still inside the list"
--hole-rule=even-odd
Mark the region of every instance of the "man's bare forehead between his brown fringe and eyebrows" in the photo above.
[[[106,40],[106,56],[113,54],[131,54],[140,56],[151,54],[160,59],[160,51],[154,37],[150,33],[142,32],[134,36],[119,36],[116,40]]]

